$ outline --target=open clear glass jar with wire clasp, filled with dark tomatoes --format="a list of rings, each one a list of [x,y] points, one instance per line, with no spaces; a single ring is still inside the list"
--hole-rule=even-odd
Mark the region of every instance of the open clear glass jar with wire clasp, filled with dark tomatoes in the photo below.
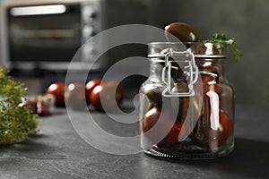
[[[149,78],[140,88],[141,146],[161,158],[204,159],[234,148],[234,91],[218,43],[149,44]]]

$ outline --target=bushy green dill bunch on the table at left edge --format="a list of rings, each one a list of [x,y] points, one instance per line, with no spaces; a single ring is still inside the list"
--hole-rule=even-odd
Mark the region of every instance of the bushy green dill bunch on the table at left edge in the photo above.
[[[7,76],[0,66],[0,145],[26,140],[41,124],[38,115],[22,107],[25,93],[24,85]]]

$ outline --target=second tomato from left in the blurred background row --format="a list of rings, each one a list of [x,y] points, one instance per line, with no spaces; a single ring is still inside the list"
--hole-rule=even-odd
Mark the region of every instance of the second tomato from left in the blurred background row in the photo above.
[[[83,109],[85,102],[85,85],[80,82],[70,83],[66,91],[66,103],[73,109]]]

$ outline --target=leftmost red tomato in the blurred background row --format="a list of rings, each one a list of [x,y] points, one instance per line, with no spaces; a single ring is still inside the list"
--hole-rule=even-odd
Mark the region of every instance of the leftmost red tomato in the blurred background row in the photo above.
[[[65,107],[65,83],[64,82],[52,83],[48,87],[47,94],[51,94],[55,97],[56,107]]]

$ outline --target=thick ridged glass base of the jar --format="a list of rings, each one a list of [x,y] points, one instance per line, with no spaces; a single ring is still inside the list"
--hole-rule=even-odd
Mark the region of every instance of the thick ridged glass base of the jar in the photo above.
[[[203,160],[228,156],[234,149],[234,144],[219,149],[188,149],[171,151],[170,149],[161,149],[156,146],[151,149],[144,149],[143,152],[156,158],[178,159],[178,160]]]

